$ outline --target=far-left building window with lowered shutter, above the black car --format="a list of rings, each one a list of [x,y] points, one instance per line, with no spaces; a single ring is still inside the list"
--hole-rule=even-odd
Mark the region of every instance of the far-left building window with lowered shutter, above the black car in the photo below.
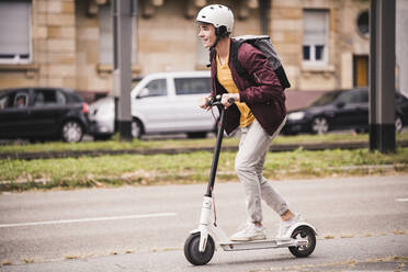
[[[0,1],[0,64],[31,61],[31,1]]]

